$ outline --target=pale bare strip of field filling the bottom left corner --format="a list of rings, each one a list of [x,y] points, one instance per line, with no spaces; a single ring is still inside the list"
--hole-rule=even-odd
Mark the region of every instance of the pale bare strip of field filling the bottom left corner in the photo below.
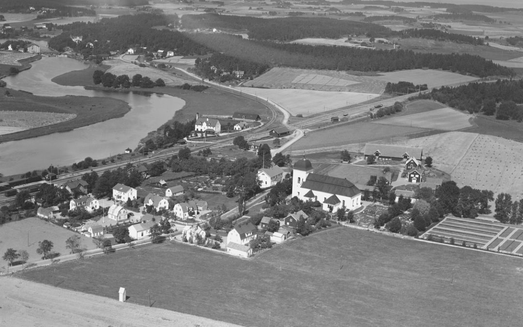
[[[0,278],[1,326],[237,326],[195,315],[122,303],[15,277]]]

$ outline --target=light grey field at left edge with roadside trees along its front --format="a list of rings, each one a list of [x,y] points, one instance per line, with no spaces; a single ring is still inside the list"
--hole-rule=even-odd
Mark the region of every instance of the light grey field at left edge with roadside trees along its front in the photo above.
[[[38,242],[49,240],[54,244],[53,252],[69,254],[70,250],[65,248],[65,240],[72,235],[78,235],[78,233],[43,221],[37,217],[8,222],[0,228],[0,253],[5,253],[9,247],[17,251],[26,250],[29,253],[30,262],[38,261],[41,260],[41,255],[36,253]],[[80,237],[82,238],[82,247],[88,250],[96,249],[92,239],[86,236]],[[5,264],[6,262],[2,262],[3,268],[7,268]]]

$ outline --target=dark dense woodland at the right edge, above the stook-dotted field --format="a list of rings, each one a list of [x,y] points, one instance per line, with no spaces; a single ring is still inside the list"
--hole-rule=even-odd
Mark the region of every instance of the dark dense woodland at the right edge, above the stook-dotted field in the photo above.
[[[419,98],[429,98],[450,107],[485,115],[496,114],[497,119],[523,119],[523,80],[498,80],[495,83],[469,83],[456,87],[443,86]]]

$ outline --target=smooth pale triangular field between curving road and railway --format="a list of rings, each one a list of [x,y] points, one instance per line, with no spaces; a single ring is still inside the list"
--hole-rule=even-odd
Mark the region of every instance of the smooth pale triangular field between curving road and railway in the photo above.
[[[380,96],[379,94],[372,93],[329,92],[291,88],[268,89],[237,87],[237,89],[238,88],[245,93],[254,94],[277,103],[293,116],[301,114],[304,117],[358,104]]]

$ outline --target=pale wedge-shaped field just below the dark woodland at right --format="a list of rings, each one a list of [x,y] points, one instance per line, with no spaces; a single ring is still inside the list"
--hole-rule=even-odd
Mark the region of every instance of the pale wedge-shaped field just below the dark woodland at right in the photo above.
[[[415,126],[428,129],[454,131],[471,127],[473,115],[452,108],[441,108],[418,114],[379,119],[374,122],[396,126]]]

